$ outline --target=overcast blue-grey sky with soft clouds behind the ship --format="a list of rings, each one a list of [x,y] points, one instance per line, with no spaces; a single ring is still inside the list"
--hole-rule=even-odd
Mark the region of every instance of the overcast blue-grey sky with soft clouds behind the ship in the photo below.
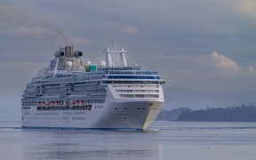
[[[60,46],[98,63],[111,41],[166,79],[165,108],[256,104],[255,0],[0,0],[1,114],[20,117],[25,85]]]

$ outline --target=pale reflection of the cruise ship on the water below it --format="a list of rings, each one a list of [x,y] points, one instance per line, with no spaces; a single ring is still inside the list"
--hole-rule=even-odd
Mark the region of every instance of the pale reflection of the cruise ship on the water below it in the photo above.
[[[38,134],[41,140],[36,140]],[[25,131],[24,140],[33,141],[24,143],[23,159],[157,159],[157,144],[149,145],[138,139],[146,140],[150,135],[148,132]]]

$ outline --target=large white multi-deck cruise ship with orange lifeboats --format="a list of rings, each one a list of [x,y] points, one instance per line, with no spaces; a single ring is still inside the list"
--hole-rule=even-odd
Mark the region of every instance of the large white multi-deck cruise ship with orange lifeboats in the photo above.
[[[22,128],[148,128],[164,104],[164,79],[128,65],[124,48],[104,52],[106,60],[92,64],[74,46],[60,47],[26,86]]]

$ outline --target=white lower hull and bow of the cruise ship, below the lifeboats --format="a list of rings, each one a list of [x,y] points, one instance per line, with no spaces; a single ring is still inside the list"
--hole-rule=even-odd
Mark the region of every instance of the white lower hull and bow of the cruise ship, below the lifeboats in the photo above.
[[[147,128],[155,120],[162,105],[162,101],[144,100],[109,102],[102,108],[92,107],[92,110],[37,111],[31,109],[29,114],[23,113],[22,127],[140,130]]]

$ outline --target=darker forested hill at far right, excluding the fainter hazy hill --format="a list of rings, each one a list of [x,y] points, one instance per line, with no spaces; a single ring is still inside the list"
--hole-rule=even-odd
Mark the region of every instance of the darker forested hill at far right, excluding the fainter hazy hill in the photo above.
[[[256,122],[256,107],[188,110],[180,114],[178,121]]]

